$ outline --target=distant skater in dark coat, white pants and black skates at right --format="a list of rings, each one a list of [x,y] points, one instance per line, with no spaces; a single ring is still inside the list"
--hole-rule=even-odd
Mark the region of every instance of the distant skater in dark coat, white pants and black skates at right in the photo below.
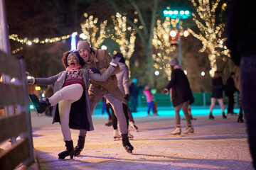
[[[222,78],[220,77],[220,73],[218,71],[215,71],[214,77],[212,80],[212,95],[210,98],[209,119],[214,119],[213,108],[215,106],[216,100],[218,100],[218,103],[220,104],[220,108],[223,111],[223,119],[227,118],[227,116],[225,116],[225,112],[224,112],[225,108],[224,108],[224,104],[223,104],[223,89],[224,89],[224,85],[223,85]]]

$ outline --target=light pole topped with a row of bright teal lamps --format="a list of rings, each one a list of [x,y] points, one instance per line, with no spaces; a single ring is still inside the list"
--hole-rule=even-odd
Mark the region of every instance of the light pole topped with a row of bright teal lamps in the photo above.
[[[169,16],[171,19],[178,19],[178,64],[181,65],[181,20],[191,16],[191,13],[189,11],[165,10],[164,16]]]

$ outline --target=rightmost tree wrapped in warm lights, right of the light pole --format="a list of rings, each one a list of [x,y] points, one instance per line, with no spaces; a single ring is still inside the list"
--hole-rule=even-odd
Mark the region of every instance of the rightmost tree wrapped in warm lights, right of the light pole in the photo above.
[[[208,58],[210,60],[210,75],[213,77],[214,72],[217,70],[216,59],[220,55],[226,55],[230,57],[228,48],[223,45],[226,38],[223,37],[223,32],[225,28],[225,23],[216,22],[216,8],[218,7],[220,0],[190,0],[193,6],[196,7],[196,12],[200,17],[192,13],[193,20],[196,22],[200,33],[195,33],[193,30],[188,29],[188,31],[198,40],[201,40],[203,47],[199,52],[208,52]],[[221,6],[221,10],[225,11],[227,4]],[[221,15],[220,15],[221,16]]]

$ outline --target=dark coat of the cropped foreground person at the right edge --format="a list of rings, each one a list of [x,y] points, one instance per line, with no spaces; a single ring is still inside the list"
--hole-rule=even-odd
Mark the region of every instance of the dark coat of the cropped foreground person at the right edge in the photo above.
[[[228,9],[226,45],[238,66],[241,56],[250,57],[256,54],[256,20],[252,19],[255,18],[255,5],[248,3],[248,1],[232,0]]]

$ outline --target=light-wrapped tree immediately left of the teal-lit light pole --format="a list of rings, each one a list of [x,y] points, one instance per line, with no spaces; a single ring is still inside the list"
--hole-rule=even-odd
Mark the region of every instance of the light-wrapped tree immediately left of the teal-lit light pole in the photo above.
[[[171,52],[176,49],[175,46],[171,46],[169,33],[171,31],[170,26],[174,25],[173,19],[166,17],[164,23],[160,20],[156,22],[154,28],[154,38],[152,44],[156,49],[156,54],[153,54],[154,67],[156,69],[164,69],[168,79],[171,79],[171,69],[169,67],[169,61],[171,60]]]

